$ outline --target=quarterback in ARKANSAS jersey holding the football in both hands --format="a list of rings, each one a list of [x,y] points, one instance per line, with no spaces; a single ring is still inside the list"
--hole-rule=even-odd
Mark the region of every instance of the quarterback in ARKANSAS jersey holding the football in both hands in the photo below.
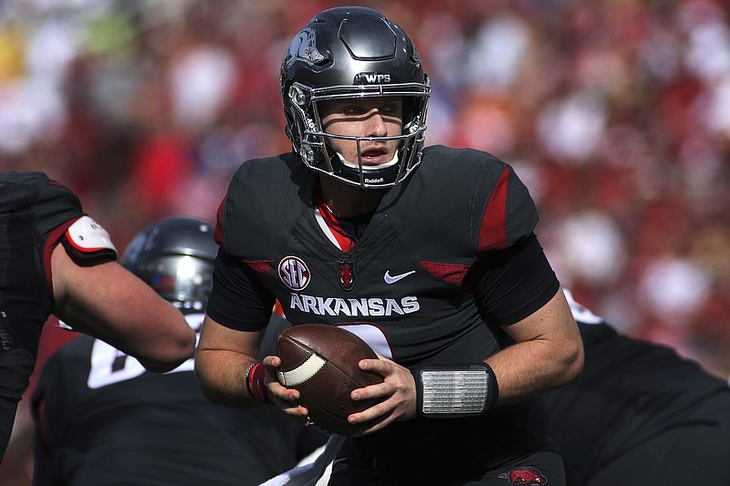
[[[583,350],[525,185],[488,153],[424,148],[429,78],[378,11],[319,13],[280,80],[293,150],[245,161],[218,212],[206,396],[310,423],[279,358],[257,358],[277,300],[293,325],[357,324],[381,355],[360,361],[384,382],[351,398],[380,403],[349,416],[330,484],[561,484],[539,395]]]

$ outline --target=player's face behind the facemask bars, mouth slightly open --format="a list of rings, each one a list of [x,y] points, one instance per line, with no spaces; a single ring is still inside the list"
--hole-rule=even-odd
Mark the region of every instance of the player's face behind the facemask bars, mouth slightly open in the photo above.
[[[348,137],[394,137],[401,135],[403,102],[400,97],[347,98],[322,102],[322,128],[332,135]],[[330,139],[333,150],[357,165],[358,144],[355,140]],[[365,140],[360,142],[364,167],[390,162],[398,150],[399,140]]]

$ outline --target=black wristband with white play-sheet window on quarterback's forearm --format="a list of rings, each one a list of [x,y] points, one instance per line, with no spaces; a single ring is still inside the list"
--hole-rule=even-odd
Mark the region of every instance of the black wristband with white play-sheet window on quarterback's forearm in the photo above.
[[[499,394],[495,373],[486,363],[459,367],[411,369],[416,407],[423,417],[448,418],[485,414]]]

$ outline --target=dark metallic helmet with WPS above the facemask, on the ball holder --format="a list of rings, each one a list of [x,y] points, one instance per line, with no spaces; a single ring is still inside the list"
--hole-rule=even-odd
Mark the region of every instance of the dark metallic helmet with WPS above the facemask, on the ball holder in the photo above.
[[[281,65],[287,136],[307,166],[360,188],[390,187],[421,162],[430,82],[411,38],[377,10],[336,7],[309,21],[294,37]],[[322,129],[318,102],[337,98],[403,97],[403,131],[397,137],[333,137]],[[363,167],[340,160],[331,138],[400,140],[397,161]]]

